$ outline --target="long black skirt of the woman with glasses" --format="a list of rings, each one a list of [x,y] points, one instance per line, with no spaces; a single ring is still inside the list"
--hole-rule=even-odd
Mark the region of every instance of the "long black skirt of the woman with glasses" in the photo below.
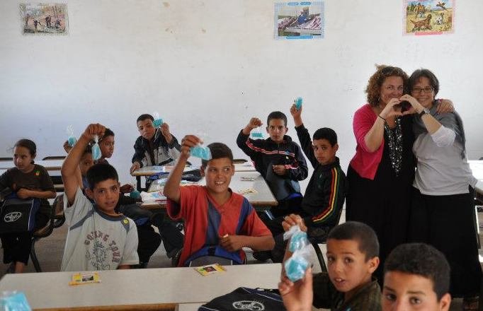
[[[475,231],[475,189],[470,193],[429,196],[413,189],[409,240],[433,245],[451,267],[453,297],[479,293],[482,269]]]

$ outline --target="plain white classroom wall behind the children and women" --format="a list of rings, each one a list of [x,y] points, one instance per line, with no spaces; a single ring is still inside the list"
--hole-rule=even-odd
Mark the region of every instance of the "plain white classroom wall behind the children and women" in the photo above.
[[[0,156],[23,137],[39,158],[62,154],[67,125],[79,135],[100,122],[115,131],[110,162],[129,182],[141,113],[159,112],[180,141],[203,134],[243,157],[235,138],[249,118],[290,117],[302,96],[309,130],[339,134],[345,169],[374,64],[432,69],[465,122],[469,158],[483,156],[482,1],[456,2],[455,33],[418,37],[402,34],[402,1],[325,1],[322,40],[274,40],[267,0],[67,3],[69,35],[51,37],[21,35],[18,1],[0,1]]]

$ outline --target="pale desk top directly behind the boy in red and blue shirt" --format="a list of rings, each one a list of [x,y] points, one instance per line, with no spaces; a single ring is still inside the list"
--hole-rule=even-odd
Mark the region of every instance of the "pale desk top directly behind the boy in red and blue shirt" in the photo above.
[[[200,180],[198,184],[204,185],[205,179],[203,178]],[[268,187],[268,184],[263,177],[261,177],[259,172],[235,172],[232,176],[232,181],[230,182],[229,187],[233,192],[245,196],[254,207],[268,207],[276,206],[278,204]],[[153,191],[159,191],[161,189],[162,188],[156,180],[152,182],[149,187],[149,190]],[[255,190],[255,192],[250,192],[251,189]],[[146,202],[141,206],[144,209],[160,209],[165,208],[166,204]]]

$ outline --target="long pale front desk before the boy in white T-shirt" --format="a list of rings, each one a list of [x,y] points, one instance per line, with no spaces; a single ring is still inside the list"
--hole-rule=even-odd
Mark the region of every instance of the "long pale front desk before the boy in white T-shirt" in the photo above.
[[[1,291],[23,291],[35,310],[175,310],[234,289],[277,288],[281,264],[226,266],[202,276],[193,268],[99,271],[101,283],[69,286],[72,272],[6,274]]]

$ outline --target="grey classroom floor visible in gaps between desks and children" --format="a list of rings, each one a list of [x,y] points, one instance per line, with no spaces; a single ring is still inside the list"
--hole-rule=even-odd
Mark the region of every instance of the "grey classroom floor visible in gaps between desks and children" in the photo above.
[[[479,218],[479,237],[480,240],[483,242],[483,211],[478,213]],[[341,216],[341,223],[346,221],[345,211],[343,211]],[[64,252],[64,245],[65,245],[65,238],[67,237],[67,226],[62,225],[62,227],[57,228],[54,232],[49,236],[45,237],[44,239],[37,242],[35,250],[37,250],[37,257],[40,262],[40,266],[42,267],[42,271],[50,272],[50,271],[59,271],[60,264],[62,262],[62,254]],[[322,247],[322,253],[325,254],[325,249]],[[483,259],[483,250],[479,250],[480,253],[480,262]],[[0,249],[0,258],[3,259],[3,249]],[[260,263],[256,261],[253,256],[251,256],[251,252],[247,252],[247,261],[249,264],[257,264]],[[315,257],[315,253],[313,254],[313,262],[317,262],[317,257]],[[151,260],[149,260],[148,268],[169,268],[171,267],[171,260],[166,257],[166,252],[164,251],[163,244],[159,246],[158,250],[152,255]],[[4,276],[8,265],[3,264],[0,262],[0,278]],[[319,266],[314,266],[314,272],[320,271]],[[35,272],[33,264],[29,262],[28,266],[25,269],[25,272]],[[325,309],[315,309],[314,310],[325,310]],[[454,299],[450,311],[462,310],[462,300],[461,299]]]

